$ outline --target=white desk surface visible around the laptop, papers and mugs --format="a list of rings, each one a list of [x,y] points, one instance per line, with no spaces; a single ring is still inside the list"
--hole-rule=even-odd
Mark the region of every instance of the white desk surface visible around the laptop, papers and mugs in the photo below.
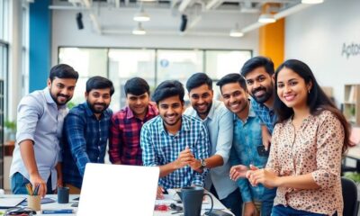
[[[168,191],[169,191],[169,194],[166,195],[165,199],[164,200],[157,200],[156,204],[167,204],[167,205],[169,205],[170,203],[176,203],[175,200],[177,200],[177,197],[175,197],[175,195],[174,195],[175,194],[174,190],[168,190]],[[15,196],[17,196],[17,197],[26,197],[26,195],[10,195],[10,194],[4,195],[4,197],[15,197]],[[57,200],[57,195],[47,195],[46,197],[53,198],[54,200]],[[79,195],[70,195],[69,202],[66,203],[66,204],[59,204],[58,202],[42,204],[41,205],[41,210],[73,209],[76,212],[77,208],[76,207],[71,207],[71,204],[73,204],[74,202],[78,202],[78,201],[73,201],[76,197],[79,197]],[[212,197],[212,199],[214,201],[213,209],[220,209],[220,210],[231,213],[229,210],[226,210],[225,206],[222,205],[222,203],[218,199],[216,199],[212,194],[211,194],[211,197]],[[210,199],[209,198],[205,199],[205,202],[202,204],[202,209],[209,208],[210,204],[209,204],[208,200],[210,200]],[[0,212],[4,212],[4,211],[5,210],[0,210]],[[181,214],[181,213],[172,214],[174,212],[175,211],[165,211],[165,212],[163,212],[163,211],[154,211],[154,216],[173,216],[173,215],[180,216],[180,215],[184,215],[184,214]],[[203,212],[204,211],[202,211],[202,213]],[[68,215],[68,216],[76,216],[76,213],[72,213],[72,214],[41,214],[40,211],[38,211],[36,215],[49,215],[49,216],[65,216],[65,215]]]

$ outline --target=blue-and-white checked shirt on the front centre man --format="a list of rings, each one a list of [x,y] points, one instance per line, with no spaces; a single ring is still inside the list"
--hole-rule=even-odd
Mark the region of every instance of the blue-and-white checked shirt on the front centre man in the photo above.
[[[209,157],[209,136],[202,121],[183,115],[181,129],[175,134],[167,133],[160,116],[148,121],[141,130],[142,160],[144,166],[162,166],[175,161],[188,146],[195,158]],[[191,184],[203,185],[206,172],[198,173],[190,166],[176,169],[159,178],[164,188],[179,188]]]

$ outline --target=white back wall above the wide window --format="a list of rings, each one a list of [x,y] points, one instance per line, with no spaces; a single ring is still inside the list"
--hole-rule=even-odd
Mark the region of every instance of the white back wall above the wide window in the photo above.
[[[110,10],[102,9],[99,16],[100,24],[105,30],[117,29],[131,31],[135,26],[132,15],[137,10]],[[52,15],[52,64],[58,62],[59,46],[78,47],[116,47],[116,48],[175,48],[175,49],[252,49],[254,55],[258,50],[258,32],[252,31],[237,39],[228,36],[229,30],[235,26],[237,20],[243,20],[239,14],[204,14],[202,21],[195,28],[200,31],[223,33],[224,36],[193,36],[193,35],[151,35],[133,36],[127,34],[99,35],[92,30],[90,19],[83,12],[85,29],[77,30],[75,10],[53,10]],[[180,26],[179,15],[172,15],[170,10],[157,10],[151,15],[151,21],[144,23],[144,28],[151,31],[178,31]],[[256,15],[254,15],[256,19]],[[253,20],[247,18],[247,23]],[[190,23],[190,22],[189,22]],[[242,27],[242,26],[240,26]],[[195,30],[196,30],[195,29]]]

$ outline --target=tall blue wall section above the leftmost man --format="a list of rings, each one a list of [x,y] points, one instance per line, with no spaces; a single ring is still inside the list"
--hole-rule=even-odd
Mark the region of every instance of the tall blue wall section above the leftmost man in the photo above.
[[[51,60],[50,0],[30,4],[29,14],[29,92],[46,86]]]

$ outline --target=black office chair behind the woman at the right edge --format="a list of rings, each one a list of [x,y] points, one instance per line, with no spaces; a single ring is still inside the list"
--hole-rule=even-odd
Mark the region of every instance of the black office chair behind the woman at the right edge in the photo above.
[[[341,177],[344,199],[344,216],[357,216],[359,202],[357,201],[357,186],[353,180]]]

